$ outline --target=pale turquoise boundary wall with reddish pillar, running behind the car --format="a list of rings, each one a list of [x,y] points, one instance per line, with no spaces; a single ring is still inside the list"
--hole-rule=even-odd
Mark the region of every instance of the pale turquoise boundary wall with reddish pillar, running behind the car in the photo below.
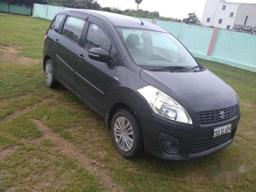
[[[34,4],[33,16],[53,19],[61,9],[66,8]],[[256,35],[156,19],[142,20],[172,33],[196,57],[256,72]]]

